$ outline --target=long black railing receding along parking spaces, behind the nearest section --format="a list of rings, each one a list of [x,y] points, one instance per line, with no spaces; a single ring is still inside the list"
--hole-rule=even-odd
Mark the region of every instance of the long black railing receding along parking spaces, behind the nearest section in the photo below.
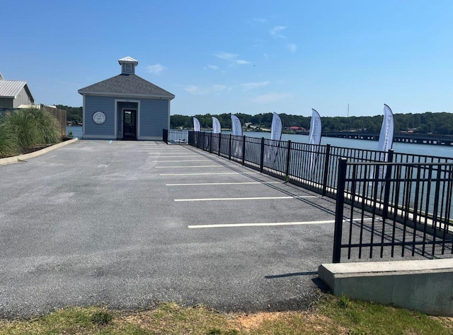
[[[172,131],[170,131],[172,132]],[[335,198],[338,158],[348,162],[378,163],[385,158],[394,163],[453,163],[453,158],[442,158],[407,153],[311,145],[292,141],[212,134],[187,131],[188,144],[220,155],[268,175]]]

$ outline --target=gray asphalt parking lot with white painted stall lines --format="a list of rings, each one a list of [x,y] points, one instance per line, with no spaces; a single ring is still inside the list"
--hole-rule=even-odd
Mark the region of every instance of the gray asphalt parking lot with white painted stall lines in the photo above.
[[[188,146],[76,141],[0,179],[0,317],[303,309],[332,258],[333,200]]]

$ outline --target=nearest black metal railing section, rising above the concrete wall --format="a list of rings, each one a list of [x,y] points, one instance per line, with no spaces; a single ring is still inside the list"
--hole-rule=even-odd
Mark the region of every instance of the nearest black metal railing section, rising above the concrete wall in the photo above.
[[[453,163],[352,163],[340,158],[333,262],[453,255]],[[353,254],[354,253],[354,254]]]

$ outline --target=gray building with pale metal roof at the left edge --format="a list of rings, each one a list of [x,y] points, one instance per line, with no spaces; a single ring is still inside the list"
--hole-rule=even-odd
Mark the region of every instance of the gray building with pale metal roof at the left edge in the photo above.
[[[6,81],[0,74],[0,108],[18,108],[34,103],[35,98],[26,81]]]

